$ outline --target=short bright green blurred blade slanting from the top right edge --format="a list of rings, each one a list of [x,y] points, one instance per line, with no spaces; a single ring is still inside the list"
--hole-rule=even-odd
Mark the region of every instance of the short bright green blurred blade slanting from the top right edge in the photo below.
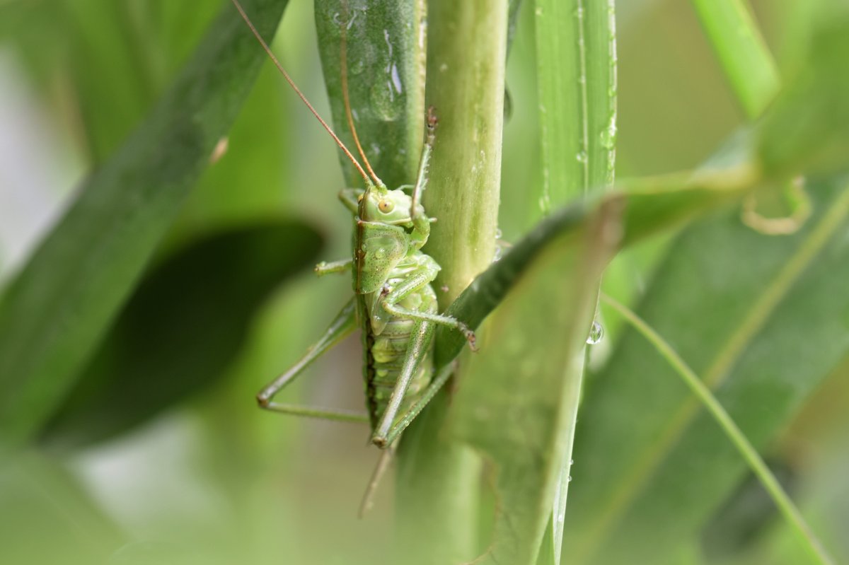
[[[745,115],[760,116],[779,92],[779,71],[745,0],[692,0]]]

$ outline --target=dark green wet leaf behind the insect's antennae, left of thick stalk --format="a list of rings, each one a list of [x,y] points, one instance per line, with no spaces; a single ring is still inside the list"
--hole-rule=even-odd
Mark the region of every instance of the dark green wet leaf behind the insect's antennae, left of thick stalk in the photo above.
[[[424,138],[424,3],[317,0],[315,17],[336,133],[362,161],[343,103],[344,31],[351,113],[363,150],[387,186],[412,184]],[[340,160],[348,186],[361,186],[341,152]]]

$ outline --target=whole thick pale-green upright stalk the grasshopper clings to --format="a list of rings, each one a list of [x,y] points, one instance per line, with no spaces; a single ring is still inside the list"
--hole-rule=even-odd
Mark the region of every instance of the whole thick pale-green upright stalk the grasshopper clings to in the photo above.
[[[425,99],[439,126],[424,204],[438,221],[425,251],[442,266],[434,285],[441,309],[495,255],[507,8],[488,0],[429,3]],[[448,399],[447,391],[437,395],[402,440],[396,540],[404,563],[469,561],[479,549],[481,462],[441,434]]]

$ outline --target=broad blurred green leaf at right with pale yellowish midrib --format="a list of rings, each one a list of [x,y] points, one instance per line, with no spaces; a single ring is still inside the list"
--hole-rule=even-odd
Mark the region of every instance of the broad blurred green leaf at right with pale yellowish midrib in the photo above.
[[[846,179],[810,189],[814,215],[770,237],[739,212],[689,227],[638,312],[762,448],[849,348]],[[633,332],[588,390],[581,481],[565,546],[576,563],[674,562],[742,475],[734,446]]]

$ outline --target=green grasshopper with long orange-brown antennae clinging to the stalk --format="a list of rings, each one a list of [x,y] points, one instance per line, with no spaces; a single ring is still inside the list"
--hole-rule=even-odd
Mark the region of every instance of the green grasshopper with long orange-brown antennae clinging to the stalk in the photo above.
[[[431,344],[436,325],[441,324],[458,330],[469,341],[469,346],[475,348],[475,334],[469,327],[453,317],[438,313],[436,293],[430,283],[436,279],[440,266],[421,250],[430,235],[430,222],[435,221],[425,214],[421,195],[427,184],[428,164],[436,137],[436,114],[433,109],[428,110],[427,131],[415,184],[390,190],[372,170],[357,137],[347,96],[344,49],[341,78],[347,121],[368,174],[295,86],[251,24],[238,0],[232,1],[286,81],[334,138],[348,159],[351,159],[351,163],[365,182],[364,190],[346,188],[340,193],[342,204],[354,215],[352,258],[322,262],[316,266],[319,276],[350,270],[354,297],[340,310],[318,343],[289,371],[262,389],[256,399],[262,408],[284,414],[349,422],[367,420],[372,428],[372,443],[383,449],[391,447],[403,429],[413,421],[451,375],[450,366],[435,378],[432,374],[434,368]],[[342,25],[341,28],[344,33],[345,26]],[[410,193],[405,192],[406,190]],[[273,401],[274,396],[301,375],[312,361],[338,344],[356,327],[360,327],[363,332],[363,378],[368,417],[351,412],[292,406]],[[379,473],[380,466],[377,474]]]

